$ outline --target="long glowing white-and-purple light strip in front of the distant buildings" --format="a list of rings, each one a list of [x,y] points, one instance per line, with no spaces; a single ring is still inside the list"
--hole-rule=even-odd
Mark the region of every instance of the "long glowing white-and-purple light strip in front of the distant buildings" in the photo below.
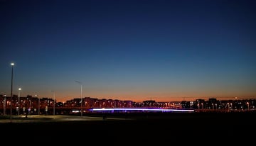
[[[182,111],[193,112],[193,109],[166,109],[166,108],[91,108],[89,111]]]

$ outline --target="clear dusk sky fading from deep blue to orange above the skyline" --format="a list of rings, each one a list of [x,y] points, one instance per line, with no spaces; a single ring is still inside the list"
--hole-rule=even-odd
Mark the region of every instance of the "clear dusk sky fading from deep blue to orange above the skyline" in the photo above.
[[[256,1],[0,1],[0,94],[256,97]]]

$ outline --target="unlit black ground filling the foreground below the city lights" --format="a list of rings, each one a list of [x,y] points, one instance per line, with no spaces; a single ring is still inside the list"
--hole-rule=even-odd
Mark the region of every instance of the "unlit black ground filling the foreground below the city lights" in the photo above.
[[[1,140],[94,145],[255,144],[256,113],[120,113],[98,121],[1,123]],[[110,117],[126,120],[107,120]],[[139,143],[138,143],[139,142]]]

